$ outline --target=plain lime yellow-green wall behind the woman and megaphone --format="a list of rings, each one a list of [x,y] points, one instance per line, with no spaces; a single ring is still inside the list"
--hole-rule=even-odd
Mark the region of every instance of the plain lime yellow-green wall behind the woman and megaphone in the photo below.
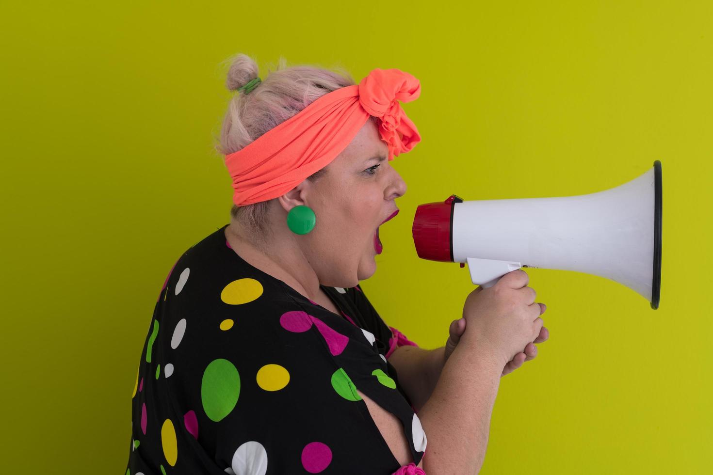
[[[703,474],[713,449],[709,1],[5,2],[0,12],[4,473],[122,473],[155,299],[229,220],[212,150],[243,52],[421,80],[422,142],[363,287],[443,345],[473,284],[416,256],[416,207],[588,194],[663,169],[658,310],[528,269],[550,340],[503,377],[482,474]],[[448,424],[448,421],[443,421]]]

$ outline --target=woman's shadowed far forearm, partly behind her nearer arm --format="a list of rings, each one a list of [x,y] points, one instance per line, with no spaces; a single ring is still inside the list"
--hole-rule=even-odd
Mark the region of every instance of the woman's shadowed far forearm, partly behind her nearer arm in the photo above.
[[[445,347],[424,350],[417,346],[399,346],[389,356],[389,362],[396,368],[399,384],[409,396],[416,412],[424,407],[434,392],[443,365],[446,364]]]

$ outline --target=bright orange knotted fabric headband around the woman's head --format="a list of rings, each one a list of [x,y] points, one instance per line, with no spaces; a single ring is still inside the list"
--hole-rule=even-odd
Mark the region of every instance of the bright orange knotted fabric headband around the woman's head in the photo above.
[[[332,162],[373,115],[389,161],[421,142],[399,100],[421,95],[421,83],[398,69],[372,70],[359,84],[333,90],[237,152],[225,155],[237,206],[277,198]]]

